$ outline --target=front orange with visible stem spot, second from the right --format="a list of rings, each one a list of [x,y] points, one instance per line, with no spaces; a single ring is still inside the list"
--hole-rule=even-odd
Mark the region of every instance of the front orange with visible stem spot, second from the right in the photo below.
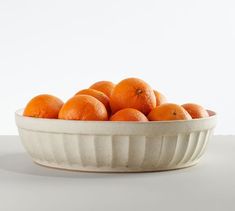
[[[148,119],[150,121],[167,121],[192,118],[182,106],[173,103],[165,103],[153,109],[149,113]]]

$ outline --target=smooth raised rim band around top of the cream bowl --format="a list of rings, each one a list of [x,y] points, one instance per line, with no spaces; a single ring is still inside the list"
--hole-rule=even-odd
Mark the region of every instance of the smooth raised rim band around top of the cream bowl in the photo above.
[[[119,121],[77,121],[46,119],[23,116],[23,109],[15,112],[16,124],[26,130],[68,133],[68,134],[101,134],[101,135],[165,135],[214,128],[217,114],[208,110],[207,118],[192,120],[119,122]]]

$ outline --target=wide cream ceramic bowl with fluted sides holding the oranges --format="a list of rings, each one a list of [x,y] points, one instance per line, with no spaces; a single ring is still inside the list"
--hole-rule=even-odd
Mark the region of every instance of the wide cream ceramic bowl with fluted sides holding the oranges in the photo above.
[[[79,171],[146,172],[184,168],[203,155],[215,112],[194,120],[108,122],[15,114],[22,143],[41,165]]]

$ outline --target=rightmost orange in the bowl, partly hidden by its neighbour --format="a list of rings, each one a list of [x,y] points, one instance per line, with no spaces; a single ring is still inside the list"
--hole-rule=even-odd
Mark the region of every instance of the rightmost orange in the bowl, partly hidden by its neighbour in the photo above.
[[[202,106],[195,103],[186,103],[182,107],[190,114],[193,119],[209,117],[208,112]]]

